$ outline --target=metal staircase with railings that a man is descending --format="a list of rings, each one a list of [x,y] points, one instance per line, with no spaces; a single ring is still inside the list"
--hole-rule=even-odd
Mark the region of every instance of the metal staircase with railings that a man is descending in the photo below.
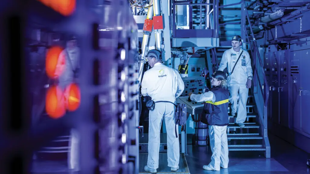
[[[229,6],[239,5],[237,8],[228,8]],[[240,8],[241,6],[241,8]],[[263,64],[262,59],[258,52],[258,47],[254,37],[253,29],[251,27],[251,19],[249,13],[252,15],[252,10],[246,9],[246,1],[241,0],[238,3],[222,5],[220,4],[221,12],[219,13],[219,26],[238,25],[241,29],[234,30],[233,33],[227,33],[225,27],[221,27],[220,45],[210,50],[209,59],[212,60],[213,70],[216,70],[221,62],[222,55],[225,50],[231,48],[230,38],[236,34],[240,35],[243,40],[243,49],[247,50],[251,55],[251,61],[253,64],[253,82],[252,89],[249,90],[249,97],[247,101],[247,119],[244,128],[240,128],[235,124],[235,117],[230,115],[229,108],[229,120],[227,135],[228,135],[228,149],[230,151],[265,151],[265,157],[270,158],[270,145],[267,135],[267,103],[268,103],[268,83],[265,78],[264,71],[262,71]],[[225,9],[224,12],[222,9]],[[227,9],[230,9],[227,11]],[[236,19],[237,18],[237,19]],[[195,20],[193,20],[195,21]],[[199,24],[197,24],[199,25]],[[224,29],[223,29],[224,28]],[[250,29],[250,34],[247,32]],[[260,76],[258,74],[260,70]],[[227,72],[225,69],[224,71]],[[263,80],[263,81],[262,81]],[[267,89],[267,90],[266,90]],[[260,111],[255,98],[262,98],[263,109]],[[230,107],[230,105],[229,105]]]

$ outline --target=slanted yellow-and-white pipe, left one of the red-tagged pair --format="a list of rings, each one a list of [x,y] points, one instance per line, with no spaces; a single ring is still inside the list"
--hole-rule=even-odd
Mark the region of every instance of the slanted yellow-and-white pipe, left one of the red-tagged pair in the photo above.
[[[150,7],[148,7],[148,13],[147,13],[146,19],[152,19],[152,18],[153,18],[153,7],[150,6]],[[143,39],[142,39],[142,44],[141,44],[141,54],[140,54],[140,60],[139,60],[139,74],[138,74],[139,87],[141,86],[142,73],[143,73],[143,68],[144,68],[144,64],[145,64],[144,57],[145,57],[145,54],[147,52],[150,37],[151,37],[151,33],[144,33],[143,34]]]

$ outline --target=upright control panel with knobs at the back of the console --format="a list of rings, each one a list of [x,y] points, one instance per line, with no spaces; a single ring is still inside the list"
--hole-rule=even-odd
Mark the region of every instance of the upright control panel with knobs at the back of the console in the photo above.
[[[205,77],[202,76],[183,77],[182,80],[184,82],[184,91],[181,94],[181,96],[188,96],[188,93],[190,92],[194,94],[201,94],[204,92]]]

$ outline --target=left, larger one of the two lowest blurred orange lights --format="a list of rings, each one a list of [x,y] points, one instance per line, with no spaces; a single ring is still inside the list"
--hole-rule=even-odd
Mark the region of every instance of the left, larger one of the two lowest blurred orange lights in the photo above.
[[[64,116],[66,112],[64,94],[59,87],[52,86],[47,90],[45,109],[47,114],[53,119]]]

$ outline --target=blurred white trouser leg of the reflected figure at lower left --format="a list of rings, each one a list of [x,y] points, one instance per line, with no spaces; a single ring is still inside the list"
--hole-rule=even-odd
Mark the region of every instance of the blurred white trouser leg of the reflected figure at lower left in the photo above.
[[[70,131],[68,168],[79,171],[79,142],[80,135],[77,129],[72,128]]]

